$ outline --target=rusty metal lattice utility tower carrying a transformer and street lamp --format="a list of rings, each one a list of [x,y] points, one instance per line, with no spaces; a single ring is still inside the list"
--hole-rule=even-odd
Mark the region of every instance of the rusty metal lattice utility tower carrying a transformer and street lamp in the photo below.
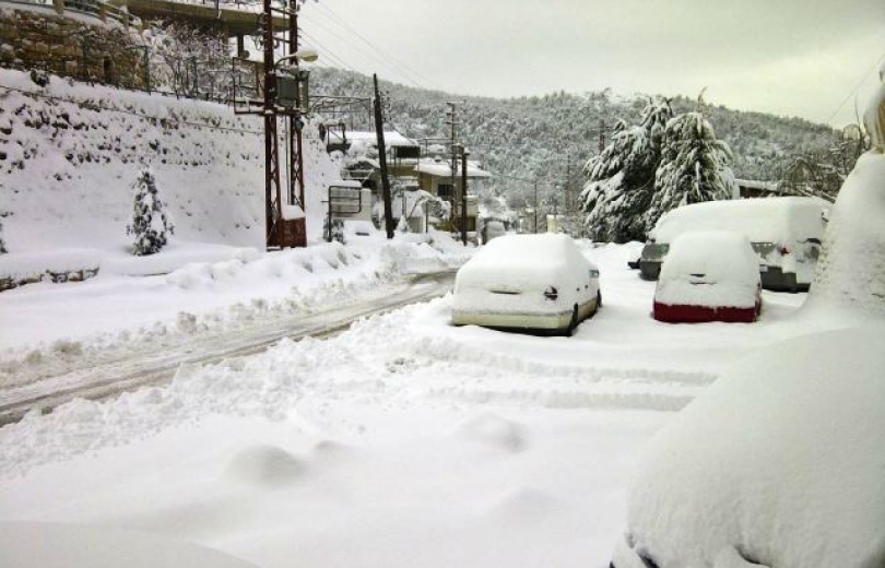
[[[261,115],[264,118],[264,193],[267,246],[307,246],[304,201],[304,154],[302,149],[302,127],[307,111],[307,72],[298,67],[298,9],[278,8],[271,0],[263,0],[263,11],[258,19],[258,32],[263,48],[263,97],[249,98],[236,93],[237,114]],[[278,34],[273,28],[275,14],[287,17],[287,35]],[[287,46],[287,54],[279,60],[274,57],[274,46]],[[287,61],[288,71],[282,72],[279,64]],[[293,71],[294,69],[294,71]],[[258,93],[256,93],[258,94]],[[278,118],[287,119],[286,157],[288,182],[285,191],[280,176],[280,138]],[[290,208],[288,205],[293,205]],[[298,211],[300,209],[300,211]],[[293,217],[293,218],[286,218]]]

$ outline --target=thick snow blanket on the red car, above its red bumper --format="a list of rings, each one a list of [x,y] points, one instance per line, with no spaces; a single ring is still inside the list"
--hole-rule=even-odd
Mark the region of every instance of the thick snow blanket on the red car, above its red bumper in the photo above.
[[[676,237],[661,268],[654,301],[670,306],[752,308],[759,265],[750,240],[727,230]]]

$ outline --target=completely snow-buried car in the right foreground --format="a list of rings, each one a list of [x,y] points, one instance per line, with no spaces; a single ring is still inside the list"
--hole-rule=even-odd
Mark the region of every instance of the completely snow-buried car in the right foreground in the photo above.
[[[613,568],[885,566],[885,326],[742,359],[649,442]]]

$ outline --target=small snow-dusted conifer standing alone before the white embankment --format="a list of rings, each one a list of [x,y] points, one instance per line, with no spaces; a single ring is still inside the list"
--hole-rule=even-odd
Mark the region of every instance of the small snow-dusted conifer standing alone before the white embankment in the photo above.
[[[142,257],[160,252],[175,227],[164,210],[166,204],[160,199],[154,175],[149,169],[142,170],[133,189],[132,224],[126,227],[127,235],[135,237],[132,253]]]

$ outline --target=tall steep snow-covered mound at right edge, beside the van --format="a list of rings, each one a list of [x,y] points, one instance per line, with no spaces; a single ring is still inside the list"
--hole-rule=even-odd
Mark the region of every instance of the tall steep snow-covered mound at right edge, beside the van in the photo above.
[[[868,152],[830,214],[810,306],[885,316],[885,156]]]

